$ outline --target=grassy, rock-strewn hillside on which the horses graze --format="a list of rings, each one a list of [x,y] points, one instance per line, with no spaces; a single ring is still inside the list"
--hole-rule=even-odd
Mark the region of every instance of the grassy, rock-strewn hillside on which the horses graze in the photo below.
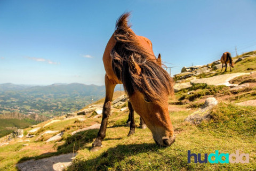
[[[252,72],[255,71],[255,59],[250,56],[236,62],[231,75],[229,68],[228,72],[220,72],[220,68],[217,68],[214,73],[202,73],[201,76],[194,76],[195,79],[177,79],[181,81],[176,85],[185,83],[189,86],[177,89],[175,97],[169,99],[170,118],[177,138],[167,148],[155,144],[148,128],[139,128],[137,114],[135,134],[127,137],[129,127],[126,127],[126,120],[129,110],[125,101],[113,105],[102,149],[90,152],[101,122],[101,114],[97,115],[96,112],[104,101],[100,99],[77,111],[83,111],[84,115],[74,113],[74,116],[55,117],[26,128],[24,132],[33,135],[30,138],[6,141],[6,136],[0,139],[0,170],[17,170],[17,167],[26,168],[27,165],[31,168],[42,164],[56,169],[66,167],[66,170],[255,170],[256,73]],[[222,76],[232,78],[225,77],[222,80]],[[209,81],[214,78],[217,78],[214,80],[217,85],[211,85]],[[196,83],[198,80],[202,83]],[[228,82],[228,86],[218,85],[222,81],[225,84]],[[122,94],[115,92],[114,100]],[[209,110],[209,120],[197,125],[185,121],[191,113],[203,108],[208,97],[218,101]],[[80,129],[81,132],[74,133]],[[49,141],[53,136],[58,139]],[[250,154],[250,163],[195,164],[194,158],[191,158],[188,164],[188,150],[196,154],[210,154],[215,150],[231,154],[239,150],[239,154]],[[66,158],[61,158],[65,155],[58,158],[59,154],[65,154]],[[51,156],[54,156],[48,159],[51,162],[46,161]]]

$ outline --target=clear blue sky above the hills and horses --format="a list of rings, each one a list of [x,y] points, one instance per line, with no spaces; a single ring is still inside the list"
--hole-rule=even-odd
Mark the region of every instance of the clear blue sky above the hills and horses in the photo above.
[[[135,34],[183,66],[256,50],[255,0],[0,0],[0,84],[104,84],[102,54],[116,19],[132,12]]]

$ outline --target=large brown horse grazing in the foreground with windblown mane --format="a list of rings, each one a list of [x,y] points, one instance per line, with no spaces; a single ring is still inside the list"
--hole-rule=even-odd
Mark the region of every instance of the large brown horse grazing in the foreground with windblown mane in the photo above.
[[[175,141],[167,103],[168,96],[174,94],[173,80],[161,67],[161,57],[156,59],[150,40],[135,35],[127,24],[129,15],[125,13],[117,20],[114,34],[103,54],[106,98],[100,130],[91,151],[102,146],[101,141],[106,136],[111,100],[117,84],[123,84],[129,96],[130,135],[135,132],[135,110],[153,133],[157,144],[169,146]]]

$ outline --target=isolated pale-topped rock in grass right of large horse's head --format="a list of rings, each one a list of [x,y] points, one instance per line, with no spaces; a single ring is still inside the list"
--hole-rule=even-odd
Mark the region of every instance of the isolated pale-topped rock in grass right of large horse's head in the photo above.
[[[208,97],[205,100],[204,105],[189,115],[184,121],[188,121],[193,124],[200,124],[203,120],[210,119],[210,111],[217,104],[218,101],[214,97]]]

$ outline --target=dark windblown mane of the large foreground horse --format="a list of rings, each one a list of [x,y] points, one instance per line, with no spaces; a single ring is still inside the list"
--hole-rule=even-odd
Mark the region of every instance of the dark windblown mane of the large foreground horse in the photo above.
[[[165,102],[166,96],[174,94],[173,79],[159,66],[154,54],[139,43],[131,26],[127,24],[129,16],[130,13],[124,13],[116,22],[116,44],[110,53],[113,59],[112,68],[129,97],[133,95],[134,90],[138,90],[145,99],[161,104]],[[134,72],[129,58],[138,64],[141,69],[139,74]]]

